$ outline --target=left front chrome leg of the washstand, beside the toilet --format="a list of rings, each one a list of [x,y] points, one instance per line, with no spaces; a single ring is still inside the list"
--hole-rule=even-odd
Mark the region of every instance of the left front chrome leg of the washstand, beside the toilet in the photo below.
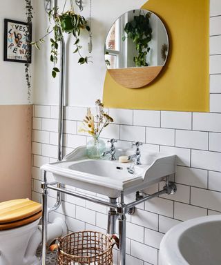
[[[41,184],[42,191],[42,255],[41,265],[46,265],[46,243],[47,243],[47,225],[48,225],[48,188],[47,188],[46,171],[44,171],[44,182]]]

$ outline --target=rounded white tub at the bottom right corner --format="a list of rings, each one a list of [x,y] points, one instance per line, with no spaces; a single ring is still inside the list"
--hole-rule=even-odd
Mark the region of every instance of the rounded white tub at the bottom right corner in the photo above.
[[[220,265],[221,215],[191,219],[164,235],[160,244],[162,265]]]

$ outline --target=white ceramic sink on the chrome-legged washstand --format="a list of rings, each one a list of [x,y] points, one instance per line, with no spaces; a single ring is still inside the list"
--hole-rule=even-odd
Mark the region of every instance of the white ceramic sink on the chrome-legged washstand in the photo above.
[[[117,157],[133,153],[134,150],[116,150]],[[86,146],[80,146],[62,161],[41,166],[41,170],[51,172],[61,184],[112,198],[119,197],[122,190],[124,194],[133,193],[175,173],[175,155],[142,152],[142,164],[134,166],[133,174],[128,172],[128,168],[133,166],[132,162],[119,163],[107,159],[88,159]]]

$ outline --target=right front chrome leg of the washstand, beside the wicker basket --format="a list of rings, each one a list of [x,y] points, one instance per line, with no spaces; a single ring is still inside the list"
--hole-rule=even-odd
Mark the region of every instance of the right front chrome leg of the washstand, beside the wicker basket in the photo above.
[[[120,197],[120,205],[124,206],[124,193]],[[126,215],[124,208],[119,214],[119,265],[126,265]]]

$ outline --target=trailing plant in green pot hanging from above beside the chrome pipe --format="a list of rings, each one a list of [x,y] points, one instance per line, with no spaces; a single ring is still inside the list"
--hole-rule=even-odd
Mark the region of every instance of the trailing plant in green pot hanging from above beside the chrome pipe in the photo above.
[[[73,53],[78,53],[79,60],[78,63],[84,64],[90,61],[90,57],[83,57],[81,55],[82,46],[79,45],[79,36],[81,34],[81,30],[87,30],[90,32],[90,27],[87,25],[86,19],[80,14],[76,14],[73,10],[73,3],[70,0],[71,8],[67,12],[62,12],[59,14],[59,8],[53,8],[48,12],[48,18],[50,21],[50,25],[53,24],[52,30],[48,28],[47,34],[44,37],[41,37],[38,41],[34,41],[31,44],[34,45],[37,49],[40,49],[40,43],[44,43],[44,39],[53,33],[53,37],[50,38],[51,50],[50,50],[50,61],[54,63],[52,68],[52,77],[56,77],[57,72],[59,72],[59,68],[57,68],[57,56],[59,49],[59,41],[64,38],[64,32],[67,34],[72,34],[75,38],[74,46],[75,49]],[[65,8],[65,6],[64,6]],[[64,9],[63,9],[64,10]]]

